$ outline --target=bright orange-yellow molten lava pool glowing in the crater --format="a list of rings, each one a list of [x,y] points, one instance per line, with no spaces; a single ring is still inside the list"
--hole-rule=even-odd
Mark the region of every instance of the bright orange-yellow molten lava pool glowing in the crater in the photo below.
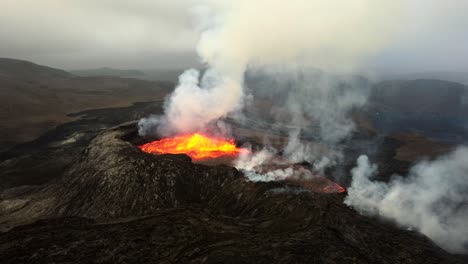
[[[238,148],[234,139],[211,138],[199,133],[163,138],[139,146],[152,154],[187,154],[194,160],[214,159],[223,156],[237,156],[247,149]]]

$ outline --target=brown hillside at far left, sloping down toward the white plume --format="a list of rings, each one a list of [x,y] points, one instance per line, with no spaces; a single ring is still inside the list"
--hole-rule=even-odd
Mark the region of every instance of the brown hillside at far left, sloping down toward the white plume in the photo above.
[[[68,122],[69,113],[161,100],[169,82],[79,77],[32,62],[0,59],[0,151]]]

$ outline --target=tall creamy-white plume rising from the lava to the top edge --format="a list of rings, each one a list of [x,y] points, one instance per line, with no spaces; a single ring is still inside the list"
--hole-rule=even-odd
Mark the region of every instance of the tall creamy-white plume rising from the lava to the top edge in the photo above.
[[[395,32],[402,2],[202,1],[195,9],[197,52],[208,70],[201,80],[196,70],[182,74],[165,115],[141,120],[140,131],[158,124],[163,135],[193,132],[241,108],[248,68],[300,63],[352,69]]]

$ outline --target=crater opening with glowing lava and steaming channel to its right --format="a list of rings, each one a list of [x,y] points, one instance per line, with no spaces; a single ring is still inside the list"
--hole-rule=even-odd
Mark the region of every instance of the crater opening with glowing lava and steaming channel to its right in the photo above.
[[[205,165],[235,165],[240,155],[253,155],[261,151],[243,148],[236,144],[234,137],[210,136],[203,133],[184,134],[174,137],[152,138],[132,134],[127,140],[133,141],[143,152],[162,154],[186,154],[194,163]],[[143,142],[143,143],[141,143]],[[250,145],[250,144],[249,144]],[[251,181],[286,181],[301,188],[319,193],[341,193],[345,188],[311,169],[308,162],[291,163],[277,153],[268,161],[241,171]]]

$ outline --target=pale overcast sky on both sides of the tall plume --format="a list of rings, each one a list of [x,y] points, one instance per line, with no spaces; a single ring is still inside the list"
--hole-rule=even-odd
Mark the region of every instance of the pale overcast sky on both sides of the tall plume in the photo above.
[[[186,68],[197,64],[193,2],[0,0],[0,57],[64,69]],[[398,37],[364,67],[468,72],[468,1],[408,0],[406,8]]]

